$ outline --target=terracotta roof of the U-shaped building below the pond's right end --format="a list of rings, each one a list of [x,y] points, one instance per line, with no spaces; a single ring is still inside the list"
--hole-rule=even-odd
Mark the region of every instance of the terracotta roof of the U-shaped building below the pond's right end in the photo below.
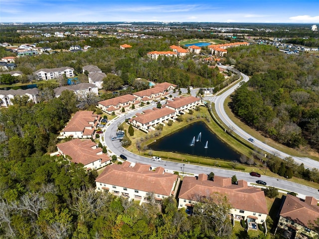
[[[268,214],[264,192],[260,188],[248,187],[244,180],[232,185],[231,178],[215,176],[214,181],[209,181],[205,174],[198,175],[198,180],[184,177],[178,198],[192,200],[195,194],[205,196],[215,192],[226,195],[234,209]]]

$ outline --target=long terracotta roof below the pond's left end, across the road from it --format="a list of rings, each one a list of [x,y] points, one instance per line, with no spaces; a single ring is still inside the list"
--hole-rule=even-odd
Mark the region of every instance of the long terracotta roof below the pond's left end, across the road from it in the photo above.
[[[122,165],[109,165],[95,181],[170,196],[177,175],[165,173],[161,167],[152,171],[150,167],[141,163],[132,167],[128,161]]]

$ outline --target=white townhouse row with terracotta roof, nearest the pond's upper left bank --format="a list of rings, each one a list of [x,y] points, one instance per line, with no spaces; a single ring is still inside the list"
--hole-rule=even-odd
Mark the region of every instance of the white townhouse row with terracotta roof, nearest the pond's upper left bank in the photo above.
[[[136,117],[129,120],[129,123],[136,128],[149,132],[155,130],[156,126],[162,124],[165,126],[165,122],[172,120],[175,122],[176,111],[169,108],[153,108],[152,110],[145,110],[143,114],[136,114]]]

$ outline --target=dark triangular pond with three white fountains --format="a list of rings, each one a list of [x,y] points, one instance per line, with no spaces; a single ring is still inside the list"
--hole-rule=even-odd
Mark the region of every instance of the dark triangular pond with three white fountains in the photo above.
[[[169,127],[169,126],[165,126]],[[213,134],[204,122],[193,123],[149,145],[156,151],[238,161],[240,155]]]

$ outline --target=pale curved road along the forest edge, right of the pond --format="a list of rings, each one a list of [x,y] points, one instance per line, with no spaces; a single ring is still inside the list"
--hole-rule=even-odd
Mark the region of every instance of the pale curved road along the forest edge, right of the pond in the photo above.
[[[243,76],[243,80],[247,82],[249,80],[249,77],[243,73],[241,73],[241,75]],[[240,136],[241,138],[243,138],[244,140],[247,140],[249,138],[253,138],[251,135],[249,135],[248,133],[246,133],[244,130],[242,130],[241,128],[239,128],[233,121],[231,121],[231,119],[228,117],[228,115],[225,112],[224,109],[224,101],[226,100],[226,98],[232,94],[237,87],[239,87],[239,84],[242,82],[240,81],[239,83],[235,84],[234,86],[232,86],[231,88],[229,88],[228,90],[226,90],[225,92],[223,92],[221,95],[219,96],[213,96],[211,97],[209,100],[215,103],[215,109],[216,109],[216,113],[219,116],[219,118],[221,119],[221,121],[227,126],[233,129],[234,133],[236,133],[238,136]],[[310,158],[302,158],[302,157],[295,157],[295,156],[291,156],[289,154],[283,153],[275,148],[270,147],[269,145],[254,139],[254,143],[248,141],[249,143],[252,143],[255,147],[258,147],[268,153],[274,154],[282,159],[285,159],[287,157],[292,157],[295,162],[297,162],[298,164],[304,164],[305,168],[318,168],[319,169],[319,162],[312,160]]]

